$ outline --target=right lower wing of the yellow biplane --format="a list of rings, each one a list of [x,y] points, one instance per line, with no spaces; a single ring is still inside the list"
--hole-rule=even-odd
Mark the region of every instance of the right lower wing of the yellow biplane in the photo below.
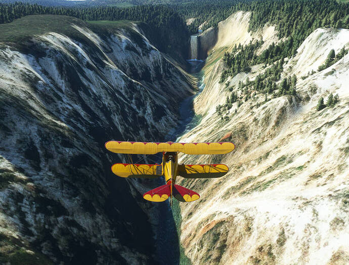
[[[184,178],[215,178],[227,174],[229,168],[224,164],[179,165],[178,174]]]

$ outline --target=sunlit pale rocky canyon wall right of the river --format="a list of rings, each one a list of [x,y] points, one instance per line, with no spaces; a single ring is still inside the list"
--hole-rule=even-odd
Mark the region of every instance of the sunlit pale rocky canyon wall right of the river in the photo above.
[[[217,141],[229,136],[234,152],[224,156],[182,156],[187,163],[224,163],[229,173],[217,179],[181,179],[201,196],[180,204],[181,243],[193,263],[338,263],[349,262],[349,54],[317,72],[331,49],[349,48],[349,30],[319,28],[285,61],[282,78],[297,77],[297,95],[273,98],[255,94],[224,116],[228,87],[263,73],[255,65],[219,84],[224,52],[249,42],[238,12],[222,22],[237,31],[218,37],[203,68],[205,88],[195,98],[200,123],[180,141]],[[248,20],[247,20],[248,22]],[[260,29],[269,32],[271,28]],[[267,35],[268,35],[267,34]],[[263,38],[265,42],[270,39]],[[221,40],[221,41],[220,41]],[[275,40],[274,40],[275,41]],[[221,42],[221,43],[220,43]],[[268,66],[267,66],[268,67]],[[314,74],[308,73],[312,70]],[[334,107],[316,110],[320,97],[339,95]],[[236,109],[236,111],[235,111]],[[230,136],[231,135],[231,136]]]

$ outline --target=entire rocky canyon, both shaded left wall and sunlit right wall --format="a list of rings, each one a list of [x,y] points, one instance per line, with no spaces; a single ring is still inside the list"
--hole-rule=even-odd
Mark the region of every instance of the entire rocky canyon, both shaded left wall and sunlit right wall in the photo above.
[[[248,31],[250,16],[236,12],[192,37],[191,74],[136,23],[99,34],[69,18],[74,36],[0,44],[1,253],[42,263],[349,262],[349,55],[310,74],[331,49],[349,48],[349,30],[318,28],[285,59],[281,76],[296,75],[296,95],[255,93],[223,119],[216,106],[232,91],[243,97],[239,81],[271,67],[220,83],[224,53],[263,39],[260,54],[282,41],[275,25]],[[316,111],[330,93],[338,104]],[[168,204],[142,198],[162,180],[113,176],[110,165],[125,161],[104,148],[111,139],[222,138],[233,153],[180,158],[230,171],[178,178],[201,196],[178,205],[179,231]]]

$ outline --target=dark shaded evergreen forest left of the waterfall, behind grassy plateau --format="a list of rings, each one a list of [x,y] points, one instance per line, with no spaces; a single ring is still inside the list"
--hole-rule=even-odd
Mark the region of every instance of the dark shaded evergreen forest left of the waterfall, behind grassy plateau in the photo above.
[[[129,8],[62,8],[44,7],[16,2],[0,4],[0,24],[9,23],[28,15],[63,15],[82,20],[130,20],[143,21],[142,29],[158,49],[174,56],[185,55],[189,32],[183,18],[164,5],[147,5]],[[37,24],[41,28],[42,24]],[[60,25],[58,24],[57,27]],[[17,29],[16,29],[17,30]]]

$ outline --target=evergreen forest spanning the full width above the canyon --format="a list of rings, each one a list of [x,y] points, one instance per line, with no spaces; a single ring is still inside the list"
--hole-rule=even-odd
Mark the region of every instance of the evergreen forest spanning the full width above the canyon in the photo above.
[[[6,2],[11,3],[11,1]],[[271,45],[259,56],[258,61],[266,63],[294,55],[303,40],[318,27],[349,28],[349,4],[338,3],[334,0],[242,0],[240,2],[217,0],[214,3],[208,0],[195,2],[101,0],[98,4],[101,6],[90,3],[94,6],[90,8],[86,7],[90,4],[68,3],[69,1],[60,1],[59,4],[54,0],[26,0],[26,2],[26,4],[18,2],[0,4],[0,23],[8,23],[20,17],[35,14],[66,15],[82,20],[143,21],[150,26],[148,30],[145,30],[149,39],[161,51],[172,55],[186,54],[189,33],[196,33],[198,26],[203,22],[206,22],[203,26],[203,29],[206,29],[217,25],[219,21],[226,19],[236,11],[251,11],[249,30],[256,30],[267,23],[275,24],[279,37],[287,38],[277,45]],[[32,3],[50,7],[32,5]],[[159,3],[166,5],[157,5]],[[63,4],[69,4],[74,8],[57,7]],[[119,7],[126,4],[156,5]],[[196,19],[187,27],[185,19],[191,17]],[[242,70],[247,69],[247,61],[244,63],[242,60],[240,67]]]

